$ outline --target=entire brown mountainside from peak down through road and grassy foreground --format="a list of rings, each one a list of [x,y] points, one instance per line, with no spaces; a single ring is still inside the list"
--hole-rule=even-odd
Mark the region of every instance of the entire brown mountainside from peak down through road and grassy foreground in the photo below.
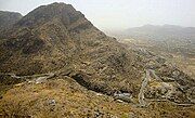
[[[192,77],[128,49],[70,4],[41,5],[0,39],[2,117],[179,117],[178,105],[194,115]]]

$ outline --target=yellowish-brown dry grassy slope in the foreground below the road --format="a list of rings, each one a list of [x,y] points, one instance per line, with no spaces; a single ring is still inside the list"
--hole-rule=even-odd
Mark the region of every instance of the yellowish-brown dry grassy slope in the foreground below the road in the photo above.
[[[194,108],[179,108],[171,103],[152,103],[148,108],[118,103],[110,96],[88,91],[68,77],[62,78],[41,84],[25,83],[9,90],[0,100],[0,115],[37,118],[160,118],[164,113],[180,117],[180,112],[188,117],[194,115]],[[50,100],[54,100],[55,104],[50,104]]]

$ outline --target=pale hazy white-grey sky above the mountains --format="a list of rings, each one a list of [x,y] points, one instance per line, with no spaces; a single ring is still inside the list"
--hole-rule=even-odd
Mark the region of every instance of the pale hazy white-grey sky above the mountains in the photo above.
[[[25,15],[52,2],[73,4],[103,30],[145,24],[195,27],[195,0],[0,0],[0,10]]]

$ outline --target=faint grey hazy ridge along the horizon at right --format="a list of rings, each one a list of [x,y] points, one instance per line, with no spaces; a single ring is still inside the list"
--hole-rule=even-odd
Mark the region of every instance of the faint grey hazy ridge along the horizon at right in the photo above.
[[[123,34],[128,37],[148,40],[191,40],[195,42],[195,28],[174,25],[145,25],[142,27],[129,28]]]

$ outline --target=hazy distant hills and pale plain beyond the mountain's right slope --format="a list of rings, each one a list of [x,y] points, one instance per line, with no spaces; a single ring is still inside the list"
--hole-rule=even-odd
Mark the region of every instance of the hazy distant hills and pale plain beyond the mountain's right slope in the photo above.
[[[116,34],[120,39],[147,41],[154,49],[195,56],[195,27],[144,25]]]

